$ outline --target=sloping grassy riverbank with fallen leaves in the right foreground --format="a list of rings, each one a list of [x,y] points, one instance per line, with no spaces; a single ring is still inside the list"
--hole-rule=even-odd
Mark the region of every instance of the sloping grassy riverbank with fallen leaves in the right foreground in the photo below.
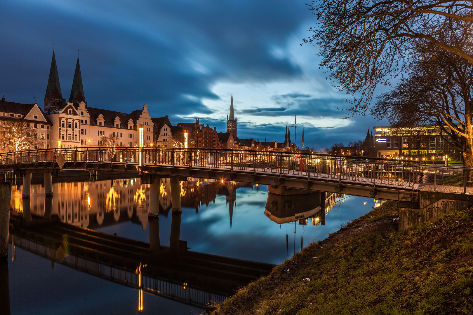
[[[396,204],[382,204],[208,311],[472,314],[473,209],[407,232],[395,217]]]

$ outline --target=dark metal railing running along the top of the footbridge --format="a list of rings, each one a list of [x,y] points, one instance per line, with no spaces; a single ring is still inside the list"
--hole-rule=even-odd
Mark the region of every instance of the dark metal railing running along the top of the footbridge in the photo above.
[[[434,166],[389,159],[333,156],[254,150],[82,147],[28,150],[0,154],[0,164],[55,162],[59,154],[66,162],[122,163],[195,167],[208,170],[262,173],[301,179],[326,179],[339,183],[363,183],[415,189],[419,184],[473,186],[473,168]],[[141,153],[141,154],[140,154]],[[141,161],[140,161],[141,158]],[[454,188],[452,188],[454,189]]]

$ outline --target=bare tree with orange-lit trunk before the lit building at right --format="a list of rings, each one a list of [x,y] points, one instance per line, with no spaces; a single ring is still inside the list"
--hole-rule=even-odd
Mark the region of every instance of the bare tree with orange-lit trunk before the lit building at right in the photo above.
[[[462,38],[445,42],[455,45]],[[424,150],[425,139],[439,127],[448,146],[463,153],[464,166],[473,166],[473,65],[433,44],[414,48],[410,77],[381,94],[372,115],[387,118],[396,135],[410,135]]]

